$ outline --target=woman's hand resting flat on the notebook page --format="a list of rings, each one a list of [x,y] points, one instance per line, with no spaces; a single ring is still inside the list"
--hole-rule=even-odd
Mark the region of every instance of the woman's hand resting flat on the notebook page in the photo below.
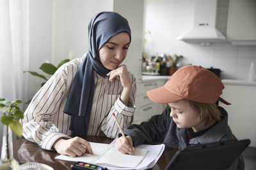
[[[83,138],[75,137],[71,139],[58,139],[52,148],[61,155],[70,157],[81,156],[83,153],[93,154],[90,143]]]

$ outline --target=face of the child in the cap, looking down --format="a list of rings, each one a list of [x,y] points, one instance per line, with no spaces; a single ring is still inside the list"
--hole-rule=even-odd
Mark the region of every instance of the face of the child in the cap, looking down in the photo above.
[[[188,101],[176,101],[168,103],[168,106],[171,108],[170,117],[173,118],[173,121],[180,129],[192,128],[194,132],[205,129],[204,121],[200,118],[200,114],[191,108]]]

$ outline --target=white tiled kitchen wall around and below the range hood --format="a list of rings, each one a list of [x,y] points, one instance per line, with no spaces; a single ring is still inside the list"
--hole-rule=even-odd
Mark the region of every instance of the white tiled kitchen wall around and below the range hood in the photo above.
[[[185,43],[177,38],[193,26],[193,0],[147,0],[145,1],[144,30],[151,31],[145,43],[148,56],[166,53],[183,55],[182,64],[220,68],[221,78],[248,79],[250,63],[256,63],[255,46],[235,46],[230,43],[212,43],[200,46]],[[226,35],[228,0],[218,1],[216,26]]]

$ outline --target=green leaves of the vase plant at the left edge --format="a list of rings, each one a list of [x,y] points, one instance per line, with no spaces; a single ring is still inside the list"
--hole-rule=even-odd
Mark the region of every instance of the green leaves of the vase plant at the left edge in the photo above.
[[[3,113],[1,122],[9,126],[12,131],[19,137],[22,136],[22,125],[19,122],[20,118],[24,117],[24,113],[19,108],[20,100],[9,101],[0,97],[0,113]]]

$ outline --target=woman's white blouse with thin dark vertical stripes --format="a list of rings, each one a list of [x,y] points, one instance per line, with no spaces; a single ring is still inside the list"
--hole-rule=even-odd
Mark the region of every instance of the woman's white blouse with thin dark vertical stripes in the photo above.
[[[63,113],[69,89],[76,71],[84,58],[74,59],[63,64],[45,85],[36,92],[24,118],[20,120],[24,138],[37,143],[45,150],[51,150],[53,143],[59,138],[70,138],[71,116]],[[123,129],[127,129],[133,120],[135,110],[136,80],[131,73],[132,91],[128,106],[120,101],[123,87],[119,77],[109,81],[93,72],[95,89],[92,112],[88,126],[88,135],[108,136],[116,138],[119,133],[112,113],[115,113]]]

